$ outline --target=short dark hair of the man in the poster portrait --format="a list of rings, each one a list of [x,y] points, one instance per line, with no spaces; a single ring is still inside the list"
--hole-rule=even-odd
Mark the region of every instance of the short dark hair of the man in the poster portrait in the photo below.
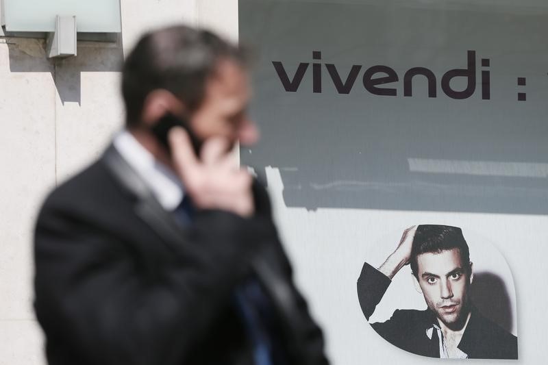
[[[458,249],[462,265],[469,269],[470,251],[460,228],[450,225],[419,225],[416,227],[410,257],[413,275],[419,279],[417,257],[421,253],[440,253],[451,249]]]

